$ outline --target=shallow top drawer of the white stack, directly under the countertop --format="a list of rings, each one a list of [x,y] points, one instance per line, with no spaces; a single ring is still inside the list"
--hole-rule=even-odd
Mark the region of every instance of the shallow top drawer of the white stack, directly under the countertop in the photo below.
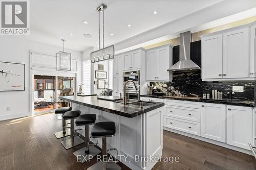
[[[190,107],[195,109],[201,109],[201,102],[179,101],[179,100],[165,100],[166,105]]]

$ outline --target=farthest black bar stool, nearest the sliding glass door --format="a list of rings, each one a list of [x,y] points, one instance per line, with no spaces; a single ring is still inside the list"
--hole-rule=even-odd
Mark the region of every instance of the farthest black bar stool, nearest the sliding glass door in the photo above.
[[[69,129],[66,131],[66,128],[67,128],[66,126],[69,124],[66,124],[66,120],[63,119],[63,114],[71,110],[72,110],[72,107],[61,107],[55,110],[55,114],[62,114],[61,119],[62,119],[62,128],[63,128],[63,131],[54,133],[57,139],[71,135]]]

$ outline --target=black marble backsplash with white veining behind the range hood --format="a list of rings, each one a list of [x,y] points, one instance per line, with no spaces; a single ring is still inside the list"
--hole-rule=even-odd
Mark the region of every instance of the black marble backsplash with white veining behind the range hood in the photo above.
[[[190,43],[191,60],[201,67],[201,41]],[[179,45],[173,48],[173,64],[179,61]],[[202,81],[201,70],[193,72],[176,72],[173,74],[172,82],[151,82],[166,95],[180,95],[202,97],[203,93],[210,93],[212,89],[223,92],[223,98],[228,91],[232,91],[232,86],[244,86],[244,92],[235,92],[233,99],[254,100],[254,81]]]

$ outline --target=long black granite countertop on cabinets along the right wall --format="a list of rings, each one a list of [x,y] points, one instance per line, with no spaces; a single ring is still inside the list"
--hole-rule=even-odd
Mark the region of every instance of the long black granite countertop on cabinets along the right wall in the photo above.
[[[169,99],[169,100],[181,100],[181,101],[191,101],[191,102],[204,102],[204,103],[217,103],[217,104],[225,104],[225,105],[235,105],[235,106],[246,106],[246,107],[254,107],[254,101],[251,100],[213,100],[213,99],[202,99],[197,97],[178,97],[178,96],[157,96],[152,94],[143,94],[141,97],[146,98],[158,98],[158,99]]]

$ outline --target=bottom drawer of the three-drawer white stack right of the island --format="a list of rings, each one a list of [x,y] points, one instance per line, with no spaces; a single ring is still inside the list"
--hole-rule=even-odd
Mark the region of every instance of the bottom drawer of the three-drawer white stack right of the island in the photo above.
[[[164,127],[200,136],[200,123],[164,116]]]

